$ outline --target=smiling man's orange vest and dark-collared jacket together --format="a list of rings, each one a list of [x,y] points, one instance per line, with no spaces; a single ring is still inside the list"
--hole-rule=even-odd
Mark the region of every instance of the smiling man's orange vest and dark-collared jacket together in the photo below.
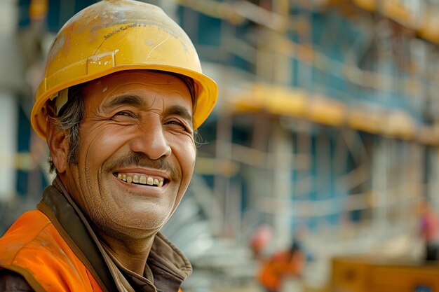
[[[130,286],[144,292],[181,292],[191,273],[189,260],[160,232],[144,276],[110,261],[58,177],[44,190],[37,208],[20,216],[0,238],[0,291],[30,286],[37,292],[119,292]]]

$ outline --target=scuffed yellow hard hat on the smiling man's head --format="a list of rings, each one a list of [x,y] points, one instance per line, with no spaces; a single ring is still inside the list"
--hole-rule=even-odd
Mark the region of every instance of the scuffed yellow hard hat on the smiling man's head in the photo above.
[[[203,74],[194,45],[179,25],[157,6],[104,0],[76,13],[58,32],[36,91],[32,127],[46,138],[46,104],[61,90],[131,69],[168,71],[192,78],[194,128],[215,106],[217,84]]]

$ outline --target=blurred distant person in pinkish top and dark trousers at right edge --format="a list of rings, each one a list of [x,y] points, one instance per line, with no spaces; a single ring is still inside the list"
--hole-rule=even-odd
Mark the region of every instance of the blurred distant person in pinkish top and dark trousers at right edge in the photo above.
[[[426,201],[419,203],[419,230],[425,245],[425,260],[438,260],[439,216]]]

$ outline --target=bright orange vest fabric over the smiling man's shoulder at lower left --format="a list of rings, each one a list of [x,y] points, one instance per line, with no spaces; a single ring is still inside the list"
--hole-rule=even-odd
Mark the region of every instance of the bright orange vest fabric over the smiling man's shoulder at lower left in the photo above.
[[[41,211],[28,211],[0,238],[0,269],[21,274],[36,292],[102,292],[88,268]]]

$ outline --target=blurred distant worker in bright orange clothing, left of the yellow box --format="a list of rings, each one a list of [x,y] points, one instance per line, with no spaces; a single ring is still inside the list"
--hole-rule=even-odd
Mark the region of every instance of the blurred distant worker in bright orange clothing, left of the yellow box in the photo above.
[[[306,256],[296,242],[290,249],[274,253],[262,261],[257,279],[267,292],[281,291],[285,279],[300,277],[306,263]]]

